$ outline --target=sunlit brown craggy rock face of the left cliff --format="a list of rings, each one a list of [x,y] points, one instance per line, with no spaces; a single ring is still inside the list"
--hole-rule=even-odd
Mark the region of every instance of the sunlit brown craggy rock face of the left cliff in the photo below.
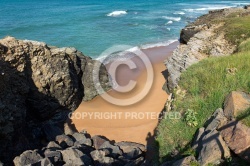
[[[81,84],[81,61],[71,48],[50,48],[45,43],[16,40],[0,41],[7,50],[5,62],[28,79],[27,105],[40,119],[51,117],[60,107],[75,110],[84,95]],[[71,54],[67,54],[70,50]]]

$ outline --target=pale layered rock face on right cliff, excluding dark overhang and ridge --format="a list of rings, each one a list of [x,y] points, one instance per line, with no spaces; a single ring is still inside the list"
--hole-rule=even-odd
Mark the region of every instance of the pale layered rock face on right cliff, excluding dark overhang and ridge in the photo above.
[[[203,26],[203,29],[195,33],[187,44],[180,44],[174,50],[173,55],[165,61],[168,70],[166,85],[169,91],[177,86],[181,73],[191,65],[208,56],[230,55],[234,52],[236,47],[230,45],[224,39],[223,34],[215,33],[215,29],[220,26],[223,25]]]

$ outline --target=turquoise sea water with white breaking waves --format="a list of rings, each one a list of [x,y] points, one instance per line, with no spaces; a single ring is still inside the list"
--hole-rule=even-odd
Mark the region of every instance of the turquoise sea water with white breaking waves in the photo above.
[[[0,38],[72,46],[93,58],[116,44],[140,47],[177,40],[188,22],[208,10],[249,1],[1,0]]]

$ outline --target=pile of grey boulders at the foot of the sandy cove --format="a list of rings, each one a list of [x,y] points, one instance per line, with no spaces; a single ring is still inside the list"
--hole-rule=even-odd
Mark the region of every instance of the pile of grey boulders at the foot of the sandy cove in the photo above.
[[[99,142],[99,149],[94,144],[85,143],[70,146],[61,145],[61,141],[72,138],[73,144],[85,139],[104,140],[102,136],[94,136],[75,132],[73,135],[59,135],[56,141],[51,141],[41,150],[28,150],[14,159],[15,166],[41,165],[42,163],[53,165],[93,165],[93,166],[139,166],[145,161],[145,146],[133,142],[112,143],[105,138]],[[75,138],[75,139],[73,139]],[[71,142],[71,141],[70,141]]]

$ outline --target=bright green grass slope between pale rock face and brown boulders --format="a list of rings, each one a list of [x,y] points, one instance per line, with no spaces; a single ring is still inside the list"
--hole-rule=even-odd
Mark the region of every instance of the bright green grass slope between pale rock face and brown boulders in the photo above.
[[[210,57],[182,73],[179,92],[174,94],[173,111],[183,116],[181,119],[163,119],[157,129],[161,162],[176,152],[179,157],[194,154],[190,143],[196,130],[217,108],[223,108],[226,95],[237,90],[250,92],[250,51],[245,51],[249,47],[242,46],[242,52],[231,56]],[[190,109],[197,113],[197,126],[189,126],[185,121],[185,112]]]

